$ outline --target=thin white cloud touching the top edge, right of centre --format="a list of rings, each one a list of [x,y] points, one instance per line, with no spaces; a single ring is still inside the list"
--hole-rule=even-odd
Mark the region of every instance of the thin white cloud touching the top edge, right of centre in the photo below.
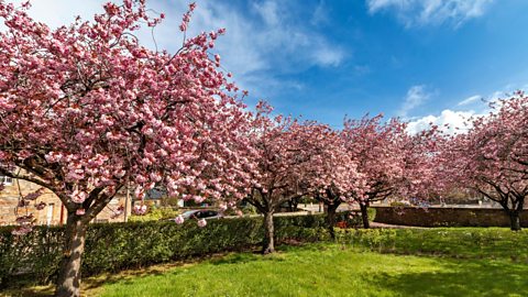
[[[441,24],[455,26],[484,14],[494,0],[366,0],[369,11],[394,12],[406,25]]]

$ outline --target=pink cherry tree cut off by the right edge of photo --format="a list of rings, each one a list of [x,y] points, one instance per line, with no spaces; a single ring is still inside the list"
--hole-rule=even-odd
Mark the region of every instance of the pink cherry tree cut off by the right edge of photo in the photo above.
[[[498,202],[512,230],[520,230],[528,196],[528,97],[516,92],[470,123],[466,133],[448,136],[442,145],[442,183]]]

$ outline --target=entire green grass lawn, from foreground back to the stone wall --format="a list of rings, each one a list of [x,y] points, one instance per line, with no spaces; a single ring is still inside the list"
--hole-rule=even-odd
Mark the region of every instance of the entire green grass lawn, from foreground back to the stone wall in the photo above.
[[[90,277],[84,294],[528,296],[527,231],[352,230],[340,235],[338,243],[280,246],[274,255],[232,253]]]

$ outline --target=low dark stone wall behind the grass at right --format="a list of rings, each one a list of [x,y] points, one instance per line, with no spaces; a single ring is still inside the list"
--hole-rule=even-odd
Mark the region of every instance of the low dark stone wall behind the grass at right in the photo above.
[[[374,207],[375,222],[419,227],[509,227],[509,217],[499,208]],[[528,210],[520,215],[528,227]]]

